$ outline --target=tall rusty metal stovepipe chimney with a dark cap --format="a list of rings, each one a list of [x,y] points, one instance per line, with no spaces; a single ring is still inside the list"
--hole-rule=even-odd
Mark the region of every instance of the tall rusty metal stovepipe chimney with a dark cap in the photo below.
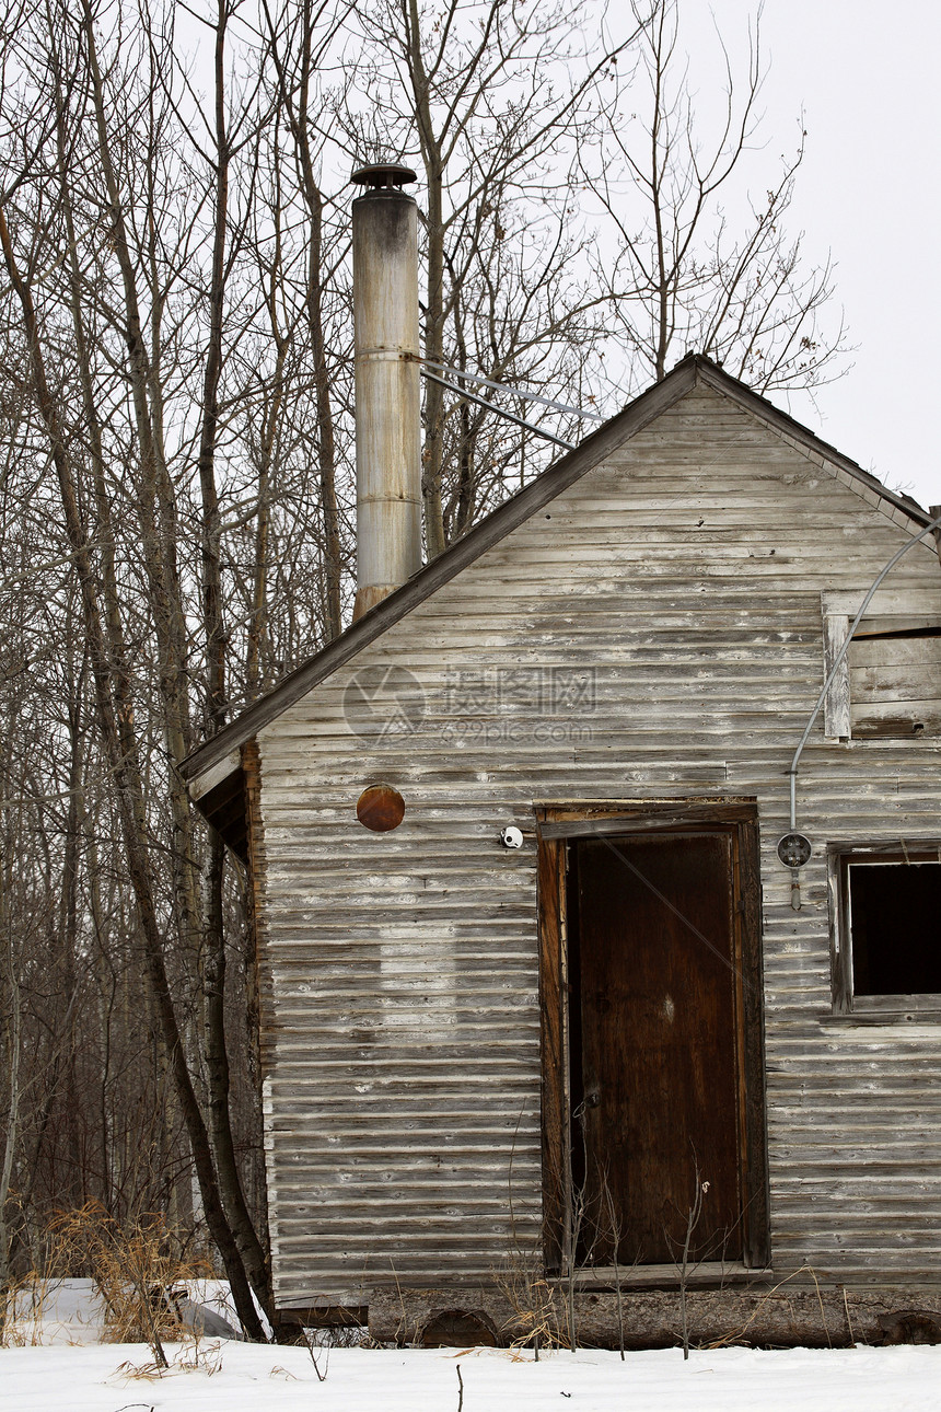
[[[422,566],[422,441],[415,172],[351,179],[367,188],[353,202],[356,621]]]

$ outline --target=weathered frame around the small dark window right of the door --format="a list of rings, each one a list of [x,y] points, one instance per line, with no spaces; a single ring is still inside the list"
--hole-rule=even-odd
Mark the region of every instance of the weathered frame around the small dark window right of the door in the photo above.
[[[849,866],[852,863],[941,864],[941,840],[899,839],[879,843],[831,843],[827,871],[831,922],[832,1012],[859,1021],[941,1019],[941,994],[920,993],[856,995],[852,977],[852,929],[849,922]]]

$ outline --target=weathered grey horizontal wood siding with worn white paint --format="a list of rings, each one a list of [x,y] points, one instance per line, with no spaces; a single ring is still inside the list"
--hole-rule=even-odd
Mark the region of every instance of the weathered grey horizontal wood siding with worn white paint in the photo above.
[[[487,1275],[538,1245],[533,802],[758,799],[775,1262],[937,1268],[941,1027],[832,1018],[825,858],[834,839],[941,837],[935,743],[839,744],[818,723],[800,912],[775,853],[822,685],[821,592],[862,597],[911,532],[839,477],[697,390],[261,731],[282,1305]],[[938,573],[917,546],[893,582]],[[425,714],[365,744],[344,689],[387,664]],[[567,709],[573,668],[594,693]],[[377,779],[406,802],[387,834],[356,819]],[[529,830],[519,851],[506,823]]]

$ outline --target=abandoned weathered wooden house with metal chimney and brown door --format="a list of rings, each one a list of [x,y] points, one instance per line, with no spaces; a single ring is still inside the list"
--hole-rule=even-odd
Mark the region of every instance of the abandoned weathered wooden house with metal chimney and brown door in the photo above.
[[[357,405],[416,408],[367,366],[416,316],[357,299]],[[432,563],[361,546],[353,626],[186,767],[251,874],[279,1309],[670,1289],[691,1213],[698,1281],[924,1303],[928,527],[691,356]]]

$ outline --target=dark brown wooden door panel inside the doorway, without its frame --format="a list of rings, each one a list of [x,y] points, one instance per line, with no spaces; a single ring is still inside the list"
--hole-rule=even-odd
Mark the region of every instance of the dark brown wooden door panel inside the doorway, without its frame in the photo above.
[[[729,830],[570,844],[576,1258],[742,1260]],[[580,1200],[580,1193],[584,1193]]]

